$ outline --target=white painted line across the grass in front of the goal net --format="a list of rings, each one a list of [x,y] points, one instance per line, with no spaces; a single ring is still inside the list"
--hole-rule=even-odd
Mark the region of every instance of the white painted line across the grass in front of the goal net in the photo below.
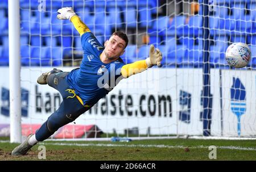
[[[0,140],[0,142],[10,142],[9,140]],[[46,142],[40,142],[40,145],[59,145],[59,146],[108,146],[108,147],[141,147],[141,148],[189,148],[189,149],[208,149],[209,146],[171,146],[171,145],[125,145],[125,144],[77,144],[77,143],[46,143]],[[230,150],[254,150],[256,151],[256,148],[246,148],[246,147],[240,147],[240,146],[216,146],[217,149],[230,149]]]

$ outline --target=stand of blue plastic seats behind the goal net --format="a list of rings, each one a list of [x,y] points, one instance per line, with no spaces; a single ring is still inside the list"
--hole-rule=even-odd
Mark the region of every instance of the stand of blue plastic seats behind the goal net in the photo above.
[[[156,15],[157,1],[47,1],[46,12],[39,12],[38,2],[20,1],[20,45],[22,65],[63,65],[61,58],[68,58],[74,51],[81,58],[82,49],[79,35],[67,20],[57,20],[57,9],[72,6],[82,20],[91,28],[100,43],[104,43],[112,31],[125,28],[135,34],[135,30],[146,30],[150,39],[147,44],[134,45],[133,41],[123,54],[124,61],[147,56],[148,44],[154,44],[164,53],[164,66],[201,67],[202,46],[198,39],[203,33],[201,6],[199,14],[160,16]],[[209,16],[210,23],[210,62],[212,68],[224,63],[224,53],[229,44],[242,42],[252,48],[255,66],[256,52],[256,2],[218,0],[216,12]],[[0,2],[0,65],[8,65],[8,3]],[[96,14],[97,13],[97,14]],[[168,43],[168,44],[167,44]],[[66,49],[60,52],[59,49]],[[71,51],[67,51],[71,49]],[[54,50],[54,51],[53,51]],[[56,50],[56,51],[55,51]],[[131,51],[131,52],[130,52]],[[52,52],[52,53],[49,53]],[[68,54],[65,54],[68,52]],[[174,53],[175,52],[175,53]],[[79,55],[80,54],[80,55]],[[59,56],[59,57],[58,57]],[[30,59],[31,58],[31,59]],[[175,60],[174,60],[175,59]],[[63,59],[62,59],[63,60]],[[168,65],[168,63],[170,63]]]

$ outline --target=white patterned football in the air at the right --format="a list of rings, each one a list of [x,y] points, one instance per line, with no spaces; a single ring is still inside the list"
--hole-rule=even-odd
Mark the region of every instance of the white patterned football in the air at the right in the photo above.
[[[250,62],[251,51],[244,43],[233,43],[226,49],[225,58],[230,66],[243,68]]]

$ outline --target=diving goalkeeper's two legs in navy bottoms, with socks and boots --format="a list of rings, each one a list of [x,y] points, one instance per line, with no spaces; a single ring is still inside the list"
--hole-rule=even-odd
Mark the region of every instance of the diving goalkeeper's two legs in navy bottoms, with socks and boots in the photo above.
[[[90,109],[88,106],[83,106],[79,98],[77,98],[75,90],[69,87],[65,78],[68,73],[53,69],[51,72],[44,73],[39,77],[41,79],[40,81],[44,79],[49,86],[60,92],[63,102],[61,102],[59,109],[53,112],[47,121],[36,131],[35,135],[29,135],[22,144],[13,150],[11,153],[12,156],[26,155],[28,150],[38,141],[48,139],[60,127],[71,123]]]

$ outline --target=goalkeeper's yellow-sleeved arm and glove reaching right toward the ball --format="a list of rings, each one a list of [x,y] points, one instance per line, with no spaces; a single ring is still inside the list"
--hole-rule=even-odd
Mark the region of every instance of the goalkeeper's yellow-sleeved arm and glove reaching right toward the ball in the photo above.
[[[151,68],[154,65],[161,65],[162,53],[154,45],[150,45],[150,56],[146,60],[135,61],[132,64],[123,65],[121,69],[122,76],[128,78],[133,74],[141,73],[147,68]]]

